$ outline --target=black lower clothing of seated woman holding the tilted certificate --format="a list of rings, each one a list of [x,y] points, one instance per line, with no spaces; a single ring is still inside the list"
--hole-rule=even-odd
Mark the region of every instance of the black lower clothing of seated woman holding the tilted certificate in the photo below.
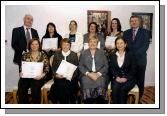
[[[78,83],[73,83],[73,81],[68,81],[65,78],[55,79],[50,89],[49,99],[54,104],[75,104],[78,99],[78,91]]]

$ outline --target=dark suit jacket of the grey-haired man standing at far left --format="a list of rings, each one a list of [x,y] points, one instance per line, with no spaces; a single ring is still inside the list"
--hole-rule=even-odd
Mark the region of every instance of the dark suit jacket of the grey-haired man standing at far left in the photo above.
[[[35,29],[31,28],[32,38],[39,38],[38,33]],[[21,65],[22,52],[26,51],[27,41],[25,36],[24,27],[17,27],[13,29],[12,32],[12,48],[14,49],[14,59],[13,62]]]

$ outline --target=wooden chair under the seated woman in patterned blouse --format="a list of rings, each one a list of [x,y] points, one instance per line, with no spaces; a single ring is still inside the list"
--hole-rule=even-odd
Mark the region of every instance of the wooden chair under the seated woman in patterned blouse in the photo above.
[[[15,86],[14,89],[13,89],[13,103],[14,104],[17,104],[18,103],[18,98],[17,98],[17,90],[18,90],[18,87]],[[31,89],[29,88],[28,89],[28,94],[31,94]],[[41,104],[43,104],[43,87],[41,88]]]

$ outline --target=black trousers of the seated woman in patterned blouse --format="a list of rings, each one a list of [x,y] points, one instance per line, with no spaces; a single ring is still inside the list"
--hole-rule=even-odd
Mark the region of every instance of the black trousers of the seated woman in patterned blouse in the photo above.
[[[29,104],[28,89],[31,89],[31,96],[33,104],[40,104],[41,102],[41,87],[44,85],[45,80],[34,80],[32,78],[20,78],[18,83],[18,103]]]

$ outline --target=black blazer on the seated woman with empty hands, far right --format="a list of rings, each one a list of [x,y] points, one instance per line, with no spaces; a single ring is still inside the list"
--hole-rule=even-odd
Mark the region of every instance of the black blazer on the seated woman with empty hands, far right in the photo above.
[[[125,52],[125,58],[123,65],[118,66],[117,55],[112,54],[110,62],[110,71],[113,74],[113,78],[125,77],[128,80],[135,79],[134,74],[136,72],[135,58],[132,52]]]

